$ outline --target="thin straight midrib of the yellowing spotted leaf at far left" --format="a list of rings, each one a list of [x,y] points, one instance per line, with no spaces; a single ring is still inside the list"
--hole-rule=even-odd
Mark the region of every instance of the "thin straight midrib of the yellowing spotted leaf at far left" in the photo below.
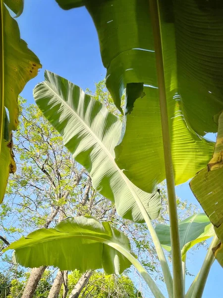
[[[3,2],[0,0],[0,153],[3,139],[4,117],[4,44],[3,44]]]

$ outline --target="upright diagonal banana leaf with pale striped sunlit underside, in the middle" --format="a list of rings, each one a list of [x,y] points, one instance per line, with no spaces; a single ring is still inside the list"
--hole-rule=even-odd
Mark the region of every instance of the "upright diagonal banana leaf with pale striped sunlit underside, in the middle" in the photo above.
[[[133,185],[114,161],[114,147],[121,134],[121,122],[100,102],[68,80],[45,73],[45,81],[34,89],[34,98],[44,116],[63,137],[64,145],[92,177],[93,187],[115,201],[121,217],[143,222],[139,209],[157,218],[161,198]]]

